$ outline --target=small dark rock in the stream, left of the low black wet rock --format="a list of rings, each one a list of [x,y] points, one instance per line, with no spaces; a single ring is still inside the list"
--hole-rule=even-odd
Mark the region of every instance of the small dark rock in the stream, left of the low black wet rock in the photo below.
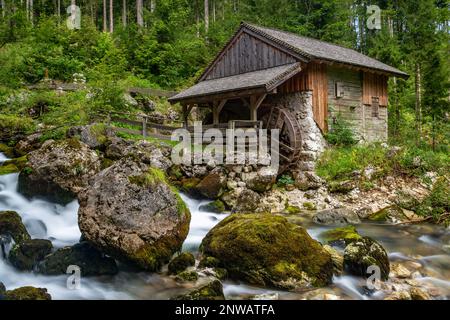
[[[17,269],[31,271],[52,249],[53,245],[49,240],[25,240],[11,249],[8,259]]]

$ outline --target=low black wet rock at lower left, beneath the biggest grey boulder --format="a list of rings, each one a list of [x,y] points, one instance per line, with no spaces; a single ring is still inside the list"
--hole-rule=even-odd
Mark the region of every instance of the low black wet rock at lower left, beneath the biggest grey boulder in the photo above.
[[[66,274],[71,265],[78,266],[85,277],[114,275],[118,272],[114,259],[105,257],[87,242],[56,250],[47,255],[37,269],[43,274],[58,275]]]

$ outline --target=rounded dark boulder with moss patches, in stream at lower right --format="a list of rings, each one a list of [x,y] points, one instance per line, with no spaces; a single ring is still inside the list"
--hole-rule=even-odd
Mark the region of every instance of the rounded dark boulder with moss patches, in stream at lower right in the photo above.
[[[386,250],[375,240],[364,237],[350,243],[344,250],[344,269],[350,274],[368,278],[368,268],[378,266],[381,280],[387,280],[390,272]]]

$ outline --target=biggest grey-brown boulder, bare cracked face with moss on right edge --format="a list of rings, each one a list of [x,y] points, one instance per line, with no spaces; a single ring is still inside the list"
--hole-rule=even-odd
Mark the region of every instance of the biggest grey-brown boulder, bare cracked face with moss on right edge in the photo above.
[[[189,231],[190,212],[164,172],[130,157],[97,174],[79,200],[85,239],[146,270],[169,262]]]

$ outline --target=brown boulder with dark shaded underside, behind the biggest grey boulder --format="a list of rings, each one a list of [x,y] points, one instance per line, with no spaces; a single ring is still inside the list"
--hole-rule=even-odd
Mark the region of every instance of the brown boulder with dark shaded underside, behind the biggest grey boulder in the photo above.
[[[99,171],[98,155],[83,142],[75,138],[49,140],[28,155],[27,167],[19,175],[19,192],[66,204]]]

